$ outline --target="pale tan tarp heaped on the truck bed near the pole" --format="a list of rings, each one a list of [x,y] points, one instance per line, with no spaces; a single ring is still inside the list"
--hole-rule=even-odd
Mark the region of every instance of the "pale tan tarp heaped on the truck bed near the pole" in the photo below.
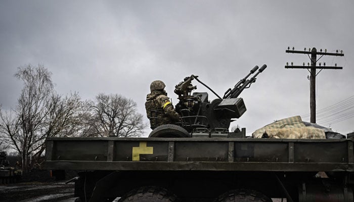
[[[306,126],[300,116],[271,123],[252,133],[254,138],[326,139],[323,129]]]

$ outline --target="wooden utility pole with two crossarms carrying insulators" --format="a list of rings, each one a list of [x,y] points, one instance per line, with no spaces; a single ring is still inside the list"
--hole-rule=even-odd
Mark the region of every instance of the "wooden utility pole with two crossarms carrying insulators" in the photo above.
[[[323,70],[323,69],[343,69],[343,67],[337,67],[337,64],[335,66],[326,66],[326,63],[323,63],[323,66],[321,66],[321,63],[319,63],[319,66],[316,66],[316,63],[323,57],[323,56],[344,56],[343,51],[340,51],[338,53],[338,50],[336,53],[327,53],[327,49],[325,49],[325,52],[322,52],[322,49],[320,52],[317,52],[316,47],[313,47],[312,49],[309,48],[308,51],[306,51],[306,48],[304,48],[304,51],[295,51],[294,47],[292,47],[292,50],[290,50],[290,47],[285,51],[285,53],[292,53],[292,54],[307,54],[307,56],[311,60],[311,66],[309,63],[307,63],[307,67],[305,66],[305,63],[302,64],[302,66],[294,66],[293,63],[289,66],[288,63],[286,63],[285,68],[286,69],[307,69],[307,71],[310,73],[310,114],[311,114],[311,123],[316,123],[316,76]],[[311,54],[311,57],[309,56]],[[317,55],[321,55],[319,59],[317,59]],[[310,70],[308,70],[310,69]],[[317,69],[321,69],[317,73]]]

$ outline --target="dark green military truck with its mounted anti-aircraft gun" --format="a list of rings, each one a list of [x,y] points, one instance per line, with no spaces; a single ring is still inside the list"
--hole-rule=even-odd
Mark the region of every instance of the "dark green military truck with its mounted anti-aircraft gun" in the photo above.
[[[68,181],[76,201],[354,201],[352,139],[228,131],[246,111],[239,94],[266,67],[254,67],[212,102],[207,93],[192,93],[198,76],[186,77],[175,87],[181,122],[158,126],[149,137],[48,138],[45,166],[58,178],[78,171]]]

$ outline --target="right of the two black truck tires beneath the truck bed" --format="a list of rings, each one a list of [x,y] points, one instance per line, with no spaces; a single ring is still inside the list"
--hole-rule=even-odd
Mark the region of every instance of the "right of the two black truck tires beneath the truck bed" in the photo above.
[[[272,202],[268,196],[250,189],[236,189],[228,191],[214,200],[214,202]]]

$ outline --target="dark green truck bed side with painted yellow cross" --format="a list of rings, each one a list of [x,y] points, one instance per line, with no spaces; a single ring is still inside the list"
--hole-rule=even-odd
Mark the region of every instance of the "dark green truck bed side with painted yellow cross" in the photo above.
[[[354,171],[352,139],[48,138],[46,169]]]

